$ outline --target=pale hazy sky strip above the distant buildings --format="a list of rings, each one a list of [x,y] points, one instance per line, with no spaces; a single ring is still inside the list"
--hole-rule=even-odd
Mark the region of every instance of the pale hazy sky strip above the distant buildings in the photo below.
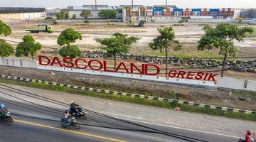
[[[119,6],[131,4],[132,0],[97,0],[97,4]],[[256,8],[256,0],[168,0],[168,4],[176,4],[179,8]],[[3,6],[28,6],[28,7],[60,7],[82,6],[82,4],[95,4],[95,0],[0,0]],[[134,4],[152,6],[165,4],[165,0],[134,0]]]

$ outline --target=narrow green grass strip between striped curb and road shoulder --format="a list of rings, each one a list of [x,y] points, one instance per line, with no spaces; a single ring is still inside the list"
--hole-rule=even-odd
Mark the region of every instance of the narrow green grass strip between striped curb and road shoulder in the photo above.
[[[194,107],[194,106],[189,106],[189,105],[184,105],[184,104],[153,101],[153,100],[149,100],[149,99],[141,99],[141,98],[135,98],[135,97],[119,97],[116,94],[102,94],[102,93],[97,93],[97,92],[89,92],[89,91],[85,91],[85,90],[53,86],[50,84],[41,84],[38,82],[20,82],[20,81],[16,81],[16,80],[3,80],[3,79],[0,79],[0,82],[7,83],[7,84],[16,84],[16,85],[21,85],[21,86],[26,86],[26,87],[34,87],[34,88],[39,88],[39,89],[48,89],[48,90],[52,90],[52,91],[65,92],[65,93],[71,93],[71,94],[80,94],[80,95],[86,95],[86,96],[97,97],[97,98],[102,98],[102,99],[110,99],[110,100],[120,101],[120,102],[143,104],[143,105],[151,106],[151,107],[162,107],[162,108],[166,108],[166,109],[174,109],[175,107],[180,107],[182,111],[188,111],[188,112],[193,112],[193,113],[198,113],[198,114],[208,114],[208,115],[213,115],[213,116],[225,116],[225,117],[233,118],[233,119],[256,121],[256,115],[252,115],[252,114],[242,114],[242,113],[236,113],[236,112],[221,111],[221,110],[216,110],[216,109],[208,109],[208,108],[204,108],[204,107]]]

